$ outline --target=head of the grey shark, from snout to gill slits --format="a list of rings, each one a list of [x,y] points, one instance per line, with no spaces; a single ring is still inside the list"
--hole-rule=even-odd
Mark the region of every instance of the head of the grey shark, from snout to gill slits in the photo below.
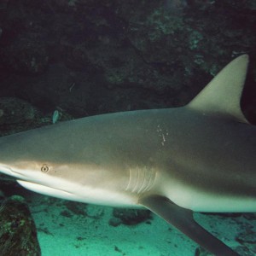
[[[105,162],[104,152],[97,153],[102,151],[101,143],[96,143],[90,132],[84,139],[77,137],[81,132],[71,127],[79,126],[76,130],[88,125],[90,129],[94,123],[89,119],[84,124],[81,120],[81,124],[69,121],[64,126],[50,125],[1,138],[0,172],[40,194],[129,207],[134,199],[118,195],[126,185],[128,172],[113,172],[118,167]]]

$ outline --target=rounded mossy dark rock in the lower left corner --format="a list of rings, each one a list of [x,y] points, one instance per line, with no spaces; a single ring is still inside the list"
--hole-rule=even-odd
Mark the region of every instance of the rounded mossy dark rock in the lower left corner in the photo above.
[[[0,255],[41,255],[36,226],[21,196],[13,195],[0,206]]]

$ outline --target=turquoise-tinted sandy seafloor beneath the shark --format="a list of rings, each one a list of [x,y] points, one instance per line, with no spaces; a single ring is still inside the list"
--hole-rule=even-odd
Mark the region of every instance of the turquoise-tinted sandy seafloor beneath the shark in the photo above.
[[[67,217],[61,214],[63,211],[70,212],[66,202],[38,194],[29,199],[43,256],[195,255],[197,245],[153,213],[149,224],[113,227],[108,224],[113,208],[84,204],[86,214],[71,212],[72,215]],[[255,219],[200,213],[195,213],[195,219],[233,248],[241,247],[236,237],[245,230],[253,230],[253,236],[256,236]]]

